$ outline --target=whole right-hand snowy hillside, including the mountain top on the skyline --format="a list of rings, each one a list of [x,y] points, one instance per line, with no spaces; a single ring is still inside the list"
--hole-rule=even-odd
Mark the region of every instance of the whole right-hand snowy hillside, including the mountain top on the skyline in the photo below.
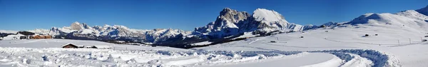
[[[372,49],[389,56],[390,66],[428,66],[428,51],[424,36],[427,36],[427,16],[414,10],[397,14],[364,14],[343,24],[330,23],[325,29],[305,33],[282,33],[274,36],[249,38],[244,41],[221,43],[195,48],[205,51],[322,51],[339,49]],[[369,36],[365,36],[368,34]],[[377,36],[376,36],[377,35]],[[303,38],[300,38],[303,36]],[[275,43],[270,43],[275,41]],[[351,54],[352,55],[352,54]],[[353,55],[355,56],[355,55]],[[365,56],[365,55],[360,55]],[[357,56],[358,57],[358,56]],[[367,57],[366,57],[367,58]],[[361,58],[355,58],[355,60]],[[373,60],[360,61],[352,66],[377,66]],[[344,63],[343,66],[350,66]],[[352,63],[351,63],[352,64]],[[360,65],[361,64],[361,65]]]

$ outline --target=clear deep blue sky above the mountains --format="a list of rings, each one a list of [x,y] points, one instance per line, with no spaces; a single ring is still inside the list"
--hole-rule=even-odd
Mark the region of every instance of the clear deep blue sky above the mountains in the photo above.
[[[0,0],[0,29],[50,29],[79,21],[90,26],[193,31],[215,21],[225,7],[250,14],[258,8],[272,9],[290,23],[320,25],[427,5],[428,0]]]

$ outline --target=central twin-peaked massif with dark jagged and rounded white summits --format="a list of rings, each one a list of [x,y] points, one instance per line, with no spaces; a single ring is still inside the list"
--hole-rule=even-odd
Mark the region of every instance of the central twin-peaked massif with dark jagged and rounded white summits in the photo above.
[[[217,20],[206,26],[195,28],[195,31],[214,38],[235,36],[245,32],[259,31],[303,31],[317,26],[302,26],[288,23],[284,16],[273,10],[256,9],[252,15],[245,11],[225,8],[220,11]]]

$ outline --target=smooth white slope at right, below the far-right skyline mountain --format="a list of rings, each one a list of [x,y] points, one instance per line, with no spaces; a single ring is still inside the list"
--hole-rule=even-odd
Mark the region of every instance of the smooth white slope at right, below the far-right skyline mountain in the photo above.
[[[220,43],[214,46],[193,48],[200,51],[323,51],[341,49],[370,49],[386,55],[387,66],[421,67],[428,66],[428,43],[424,32],[397,26],[348,26],[336,29],[282,33],[273,36],[248,38],[243,41]],[[365,34],[370,36],[365,37]],[[378,34],[378,36],[375,36]],[[303,36],[304,38],[300,38]],[[276,43],[271,43],[275,41]],[[341,51],[332,51],[341,52]],[[360,59],[358,53],[351,61],[341,66],[376,66],[370,57]],[[362,55],[360,55],[362,56]],[[364,56],[364,55],[363,55]],[[376,55],[375,55],[376,56]],[[365,60],[369,58],[370,60]],[[360,59],[355,62],[354,60]],[[343,60],[343,59],[342,59]],[[370,61],[372,64],[370,64]]]

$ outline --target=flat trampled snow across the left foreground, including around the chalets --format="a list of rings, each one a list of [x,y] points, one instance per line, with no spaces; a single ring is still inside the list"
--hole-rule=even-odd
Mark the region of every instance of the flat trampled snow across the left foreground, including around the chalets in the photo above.
[[[113,48],[60,48],[64,43],[73,43],[78,46],[111,46]],[[0,41],[0,46],[1,66],[225,67],[263,66],[265,64],[269,64],[269,66],[340,66],[342,63],[346,63],[338,56],[324,52],[195,51],[66,39],[6,40]],[[357,58],[351,59],[360,61]],[[349,66],[357,66],[357,64],[365,63],[347,63]]]

